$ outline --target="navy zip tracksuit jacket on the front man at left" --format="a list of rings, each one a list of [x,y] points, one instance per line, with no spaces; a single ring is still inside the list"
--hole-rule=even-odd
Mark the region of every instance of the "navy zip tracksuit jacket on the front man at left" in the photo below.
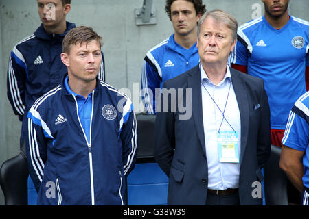
[[[137,154],[133,103],[101,80],[92,101],[89,142],[64,80],[28,112],[26,151],[38,205],[126,204],[125,176]]]

